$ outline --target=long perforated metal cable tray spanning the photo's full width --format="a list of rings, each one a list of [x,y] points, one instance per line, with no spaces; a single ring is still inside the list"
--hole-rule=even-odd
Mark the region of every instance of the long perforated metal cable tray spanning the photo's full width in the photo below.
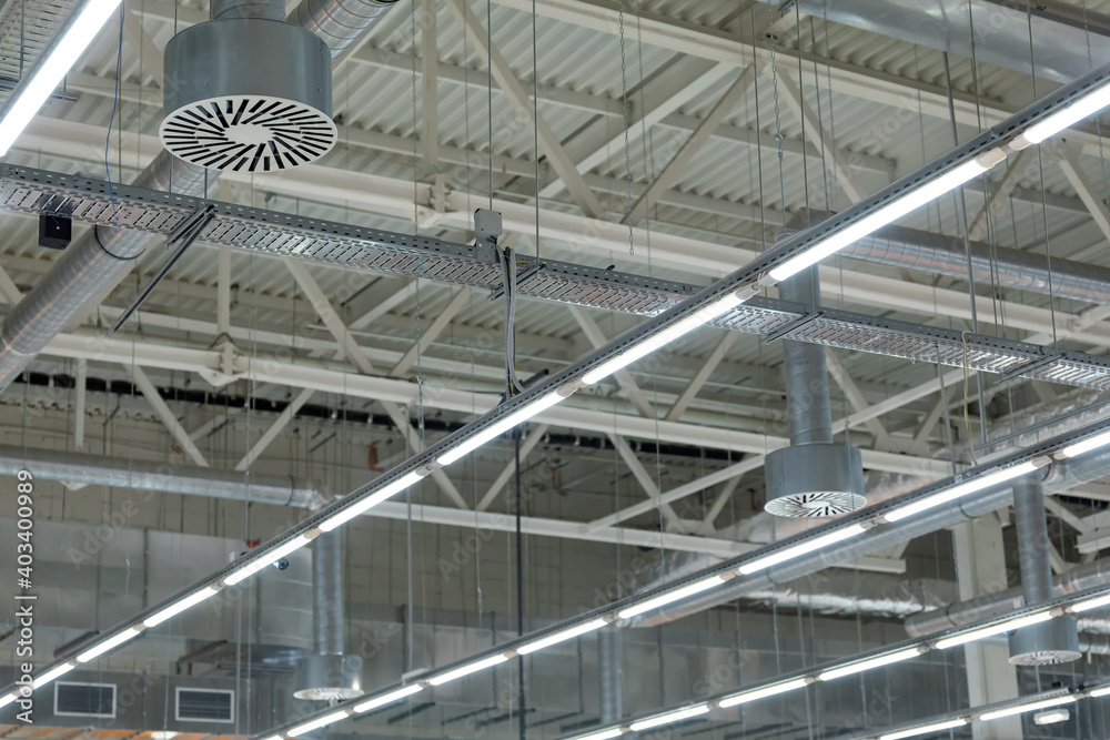
[[[365,229],[316,219],[188,197],[130,185],[112,185],[114,216],[128,229],[170,234],[199,209],[213,217],[199,237],[271,254],[327,264],[423,277],[496,291],[502,270],[490,247]],[[105,181],[33,168],[0,165],[0,207],[61,215],[114,226]],[[684,301],[700,286],[653,280],[552,260],[518,255],[519,295],[575,305],[654,316]],[[799,320],[809,321],[799,322]],[[808,307],[756,298],[722,316],[716,326],[747,334],[774,335],[867,352],[911,362],[939,362],[1063,385],[1110,389],[1110,362],[1086,353],[1057,352],[1040,345],[999,339],[924,324],[897,322],[847,311]],[[790,328],[790,324],[797,324]],[[784,330],[786,330],[784,332]],[[778,337],[776,337],[778,338]],[[1028,368],[1022,369],[1028,366]]]

